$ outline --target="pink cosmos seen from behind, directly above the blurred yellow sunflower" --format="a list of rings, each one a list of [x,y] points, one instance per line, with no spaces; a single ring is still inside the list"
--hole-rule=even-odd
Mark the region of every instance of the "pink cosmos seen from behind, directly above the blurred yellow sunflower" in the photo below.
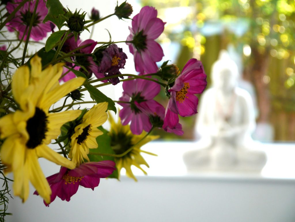
[[[128,103],[119,103],[123,106],[119,113],[122,125],[127,125],[131,121],[130,130],[136,135],[140,135],[142,130],[150,131],[152,124],[149,116],[142,112],[136,104],[145,103],[151,109],[158,106],[153,98],[160,92],[160,85],[149,80],[135,79],[123,82],[123,90],[119,101]]]

